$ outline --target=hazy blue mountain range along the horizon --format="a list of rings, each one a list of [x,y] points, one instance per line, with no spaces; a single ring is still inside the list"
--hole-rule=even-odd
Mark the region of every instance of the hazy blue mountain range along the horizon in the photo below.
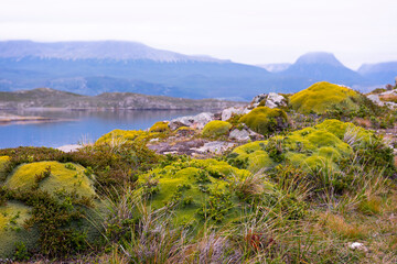
[[[365,90],[396,76],[397,63],[354,72],[322,52],[304,54],[292,65],[254,66],[135,42],[0,42],[2,91],[50,87],[89,96],[118,91],[249,100],[261,92],[296,92],[321,80]]]

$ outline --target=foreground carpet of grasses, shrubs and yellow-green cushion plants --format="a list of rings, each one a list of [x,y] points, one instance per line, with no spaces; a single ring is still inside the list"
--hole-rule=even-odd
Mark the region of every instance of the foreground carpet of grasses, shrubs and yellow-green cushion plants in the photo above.
[[[396,263],[396,143],[362,128],[393,128],[396,113],[328,82],[302,92],[288,118],[258,107],[202,131],[115,130],[72,153],[0,150],[0,258]],[[242,123],[267,136],[196,158],[147,147],[229,143]]]

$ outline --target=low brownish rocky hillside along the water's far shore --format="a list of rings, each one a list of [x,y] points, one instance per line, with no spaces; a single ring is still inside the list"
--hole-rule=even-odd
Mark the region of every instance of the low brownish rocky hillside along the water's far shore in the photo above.
[[[58,91],[50,88],[0,91],[0,109],[67,108],[67,109],[223,109],[246,102],[215,99],[192,100],[183,98],[147,96],[132,92],[105,92],[95,97]]]

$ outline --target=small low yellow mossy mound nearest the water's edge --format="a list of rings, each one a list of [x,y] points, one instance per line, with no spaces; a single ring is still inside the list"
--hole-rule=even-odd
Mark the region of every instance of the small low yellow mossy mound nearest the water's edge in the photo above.
[[[142,130],[112,130],[107,134],[100,136],[95,144],[110,144],[110,145],[120,145],[126,142],[133,141],[148,141],[152,138],[155,138],[158,133],[150,133]]]

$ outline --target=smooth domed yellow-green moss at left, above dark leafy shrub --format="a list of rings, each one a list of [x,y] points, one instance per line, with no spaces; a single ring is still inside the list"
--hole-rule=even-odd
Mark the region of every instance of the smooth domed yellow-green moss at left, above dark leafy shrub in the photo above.
[[[86,175],[85,168],[78,164],[58,162],[36,162],[22,164],[7,178],[6,186],[11,189],[30,189],[36,184],[36,175],[51,167],[51,175],[39,183],[39,188],[50,194],[65,190],[76,191],[81,196],[95,196],[93,180]]]

